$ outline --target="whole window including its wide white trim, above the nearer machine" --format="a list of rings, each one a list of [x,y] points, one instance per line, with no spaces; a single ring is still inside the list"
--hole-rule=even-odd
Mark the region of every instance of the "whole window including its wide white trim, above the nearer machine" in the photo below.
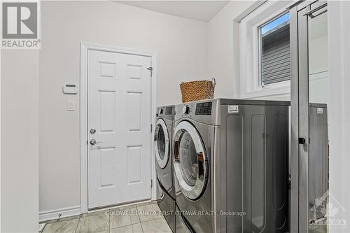
[[[234,55],[240,98],[290,99],[290,1],[265,1],[235,20]],[[236,23],[237,22],[237,23]]]

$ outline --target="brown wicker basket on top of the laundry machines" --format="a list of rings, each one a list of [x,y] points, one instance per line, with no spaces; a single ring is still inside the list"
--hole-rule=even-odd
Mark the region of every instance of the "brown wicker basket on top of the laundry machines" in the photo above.
[[[182,102],[213,99],[216,81],[200,80],[180,84]]]

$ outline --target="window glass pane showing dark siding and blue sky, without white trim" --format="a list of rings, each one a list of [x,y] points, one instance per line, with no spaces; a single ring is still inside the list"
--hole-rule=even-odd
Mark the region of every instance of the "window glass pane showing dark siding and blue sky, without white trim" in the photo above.
[[[283,13],[258,27],[261,87],[290,80],[289,18]]]

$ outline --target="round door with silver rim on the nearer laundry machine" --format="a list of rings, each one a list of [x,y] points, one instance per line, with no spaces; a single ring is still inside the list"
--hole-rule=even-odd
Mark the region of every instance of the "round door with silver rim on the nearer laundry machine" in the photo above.
[[[207,154],[197,129],[182,121],[174,134],[174,171],[181,191],[188,199],[202,194],[208,174]]]

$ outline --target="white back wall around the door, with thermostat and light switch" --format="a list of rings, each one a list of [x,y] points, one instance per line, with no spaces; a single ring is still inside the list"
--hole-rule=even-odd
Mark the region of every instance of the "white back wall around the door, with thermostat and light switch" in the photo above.
[[[181,101],[182,80],[209,78],[207,36],[205,22],[120,3],[43,1],[40,211],[80,205],[79,112],[66,111],[68,99],[75,100],[78,109],[78,95],[62,94],[64,83],[79,83],[79,43],[158,52],[160,106]],[[221,90],[222,85],[218,85]]]

